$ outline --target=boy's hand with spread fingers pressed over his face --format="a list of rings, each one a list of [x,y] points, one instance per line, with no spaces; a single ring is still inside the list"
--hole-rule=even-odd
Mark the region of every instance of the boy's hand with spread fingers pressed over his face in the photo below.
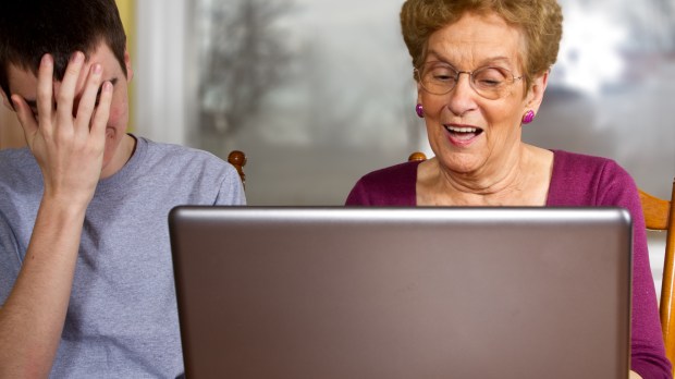
[[[74,109],[84,63],[84,54],[75,52],[54,96],[53,59],[45,54],[38,72],[37,119],[21,96],[13,95],[12,102],[42,171],[45,198],[86,208],[101,173],[112,85],[106,82],[101,86],[101,65],[91,64]]]

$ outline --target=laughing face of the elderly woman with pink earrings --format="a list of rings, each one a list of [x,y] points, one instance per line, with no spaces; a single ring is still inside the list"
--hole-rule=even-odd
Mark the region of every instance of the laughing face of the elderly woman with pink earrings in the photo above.
[[[519,77],[524,75],[519,59],[523,45],[519,29],[496,14],[467,13],[429,37],[425,62],[427,66],[429,62],[443,62],[463,72],[506,69],[502,72]],[[527,94],[525,78],[507,81],[496,99],[494,94],[491,98],[479,95],[469,81],[469,75],[459,74],[455,87],[445,95],[430,94],[418,84],[418,101],[440,164],[451,172],[491,174],[501,170],[500,162],[517,154],[523,114],[538,110],[547,74],[535,78]]]

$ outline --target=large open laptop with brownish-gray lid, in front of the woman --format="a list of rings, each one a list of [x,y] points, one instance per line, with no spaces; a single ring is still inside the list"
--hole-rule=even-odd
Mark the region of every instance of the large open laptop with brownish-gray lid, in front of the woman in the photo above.
[[[187,378],[625,378],[618,208],[191,207]]]

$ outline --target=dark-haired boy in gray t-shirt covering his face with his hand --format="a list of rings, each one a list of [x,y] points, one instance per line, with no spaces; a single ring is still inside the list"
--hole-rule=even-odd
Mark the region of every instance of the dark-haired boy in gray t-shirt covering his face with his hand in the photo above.
[[[243,205],[233,167],[126,133],[114,0],[0,5],[0,87],[27,148],[0,151],[0,377],[183,372],[168,235],[181,204]]]

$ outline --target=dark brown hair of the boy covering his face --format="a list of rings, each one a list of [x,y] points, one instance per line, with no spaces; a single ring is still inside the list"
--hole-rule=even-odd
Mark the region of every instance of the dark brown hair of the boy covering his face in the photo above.
[[[126,75],[126,35],[114,0],[2,0],[0,87],[11,96],[10,64],[37,75],[46,53],[52,54],[54,78],[61,81],[73,52],[88,58],[100,41],[110,47]]]

